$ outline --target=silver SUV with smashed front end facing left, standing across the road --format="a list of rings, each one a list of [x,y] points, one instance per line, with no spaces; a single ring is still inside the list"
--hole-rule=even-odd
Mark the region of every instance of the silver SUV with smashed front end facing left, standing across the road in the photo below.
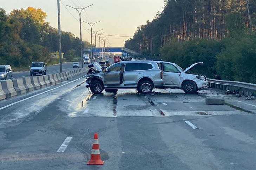
[[[105,90],[137,89],[140,93],[151,93],[153,88],[163,87],[162,72],[153,61],[123,61],[103,69],[98,63],[88,65],[86,87],[92,93]],[[94,69],[95,68],[95,69]]]

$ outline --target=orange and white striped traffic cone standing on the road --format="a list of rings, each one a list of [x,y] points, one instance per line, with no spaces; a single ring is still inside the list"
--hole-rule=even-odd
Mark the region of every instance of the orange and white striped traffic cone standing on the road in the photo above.
[[[104,161],[100,159],[98,134],[94,133],[91,159],[87,161],[87,165],[103,165],[103,164],[104,164]]]

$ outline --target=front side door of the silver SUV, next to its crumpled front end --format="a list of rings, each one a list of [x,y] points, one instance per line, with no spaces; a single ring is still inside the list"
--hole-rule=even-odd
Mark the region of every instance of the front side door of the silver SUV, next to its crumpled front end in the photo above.
[[[106,86],[117,86],[120,84],[121,66],[122,63],[114,64],[107,70],[107,72],[105,72]]]

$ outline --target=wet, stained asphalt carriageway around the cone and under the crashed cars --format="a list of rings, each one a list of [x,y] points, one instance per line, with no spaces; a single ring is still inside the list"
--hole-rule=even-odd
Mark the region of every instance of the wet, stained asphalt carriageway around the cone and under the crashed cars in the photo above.
[[[211,89],[118,90],[114,99],[92,95],[84,82],[82,75],[0,102],[0,169],[255,169],[255,100]],[[209,96],[229,104],[206,105]],[[94,133],[101,166],[86,165]]]

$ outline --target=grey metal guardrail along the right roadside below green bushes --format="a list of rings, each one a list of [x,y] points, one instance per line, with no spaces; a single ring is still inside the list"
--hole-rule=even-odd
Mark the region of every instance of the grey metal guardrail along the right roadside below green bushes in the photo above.
[[[216,79],[207,79],[207,81],[210,88],[229,90],[231,92],[236,91],[245,96],[256,94],[256,84]]]

